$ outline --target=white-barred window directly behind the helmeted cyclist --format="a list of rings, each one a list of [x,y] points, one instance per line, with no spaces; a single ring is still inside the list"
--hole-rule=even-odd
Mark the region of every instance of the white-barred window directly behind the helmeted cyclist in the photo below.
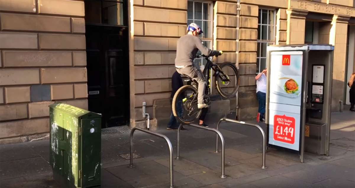
[[[209,1],[187,1],[187,24],[196,23],[202,28],[202,35],[199,37],[202,43],[212,48],[212,2]],[[201,54],[200,51],[197,54]],[[195,63],[198,63],[203,70],[206,65],[205,59],[195,59]]]

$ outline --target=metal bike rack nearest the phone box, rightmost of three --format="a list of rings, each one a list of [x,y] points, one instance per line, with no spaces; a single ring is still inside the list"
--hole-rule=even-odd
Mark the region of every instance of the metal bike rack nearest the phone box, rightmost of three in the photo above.
[[[267,167],[265,166],[265,153],[266,153],[266,137],[265,137],[265,132],[264,130],[257,124],[253,124],[253,123],[247,123],[247,122],[244,122],[244,121],[237,121],[237,120],[233,120],[233,119],[228,119],[228,118],[222,118],[218,121],[218,124],[217,124],[217,127],[216,127],[216,130],[219,129],[219,124],[222,122],[222,121],[229,121],[229,122],[233,122],[233,123],[237,123],[237,124],[242,124],[242,125],[249,125],[249,126],[253,126],[253,127],[257,127],[261,134],[263,135],[263,165],[262,165],[262,169],[266,169]],[[180,128],[180,127],[179,127]],[[216,150],[215,150],[215,153],[218,153],[218,134],[216,134]],[[179,144],[179,142],[178,142]],[[223,148],[223,142],[222,142],[222,149],[224,150]],[[178,148],[179,148],[179,145],[178,145]],[[178,150],[179,152],[179,150]],[[222,151],[224,153],[224,151]]]

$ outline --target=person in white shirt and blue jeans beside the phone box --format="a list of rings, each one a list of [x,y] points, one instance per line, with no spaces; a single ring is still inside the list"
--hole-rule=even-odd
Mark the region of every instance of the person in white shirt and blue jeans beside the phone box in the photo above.
[[[259,101],[258,114],[256,115],[257,122],[265,122],[265,103],[266,103],[266,69],[255,76],[256,80],[256,97]]]

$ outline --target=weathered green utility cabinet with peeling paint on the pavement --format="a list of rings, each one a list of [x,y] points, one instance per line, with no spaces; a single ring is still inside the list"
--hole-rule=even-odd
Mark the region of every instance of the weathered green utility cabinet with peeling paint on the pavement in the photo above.
[[[101,115],[65,103],[49,106],[50,165],[66,187],[101,182]]]

